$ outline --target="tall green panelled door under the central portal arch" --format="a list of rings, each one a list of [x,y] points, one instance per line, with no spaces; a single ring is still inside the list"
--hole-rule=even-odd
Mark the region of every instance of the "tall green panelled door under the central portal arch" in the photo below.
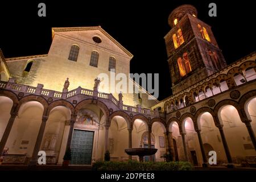
[[[71,143],[71,164],[91,164],[93,131],[74,130]]]

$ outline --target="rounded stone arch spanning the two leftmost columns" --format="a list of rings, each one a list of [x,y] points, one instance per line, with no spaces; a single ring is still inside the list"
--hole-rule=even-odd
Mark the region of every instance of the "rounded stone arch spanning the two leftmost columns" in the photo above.
[[[26,96],[26,97],[23,97],[22,99],[19,100],[19,104],[18,106],[16,107],[15,109],[15,112],[18,113],[19,109],[20,109],[20,106],[22,106],[23,104],[29,102],[29,101],[37,101],[39,102],[40,104],[43,105],[44,107],[44,111],[43,111],[43,115],[47,115],[47,110],[48,110],[48,103],[47,101],[41,97],[41,96]]]

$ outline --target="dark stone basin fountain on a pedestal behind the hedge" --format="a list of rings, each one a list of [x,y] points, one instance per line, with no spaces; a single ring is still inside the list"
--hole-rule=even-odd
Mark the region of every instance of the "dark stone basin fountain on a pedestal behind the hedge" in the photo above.
[[[125,149],[128,155],[138,155],[139,162],[143,162],[143,157],[145,155],[154,155],[158,151],[157,148],[127,148]]]

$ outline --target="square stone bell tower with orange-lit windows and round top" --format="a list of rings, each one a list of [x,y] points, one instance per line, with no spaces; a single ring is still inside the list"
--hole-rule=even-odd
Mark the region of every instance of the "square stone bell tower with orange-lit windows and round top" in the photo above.
[[[197,18],[192,5],[182,5],[168,18],[171,30],[164,36],[173,94],[226,67],[211,27]]]

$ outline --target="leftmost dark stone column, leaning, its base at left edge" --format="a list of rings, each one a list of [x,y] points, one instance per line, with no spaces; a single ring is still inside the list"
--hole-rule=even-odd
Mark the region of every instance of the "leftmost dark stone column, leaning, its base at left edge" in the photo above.
[[[3,133],[3,137],[2,137],[1,142],[0,142],[0,156],[3,153],[3,149],[5,148],[5,144],[7,142],[7,139],[9,137],[9,135],[10,135],[11,128],[13,127],[13,123],[14,123],[15,118],[16,118],[17,115],[18,115],[18,113],[16,113],[16,112],[11,113],[11,117],[10,117],[8,123],[7,123],[5,132]]]

